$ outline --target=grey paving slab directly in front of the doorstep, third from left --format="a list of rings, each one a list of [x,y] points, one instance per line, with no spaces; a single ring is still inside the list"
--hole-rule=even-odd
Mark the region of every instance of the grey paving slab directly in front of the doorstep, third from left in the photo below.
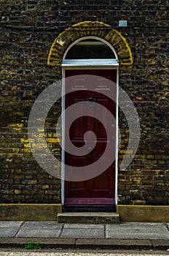
[[[63,228],[60,238],[104,238],[104,229]]]

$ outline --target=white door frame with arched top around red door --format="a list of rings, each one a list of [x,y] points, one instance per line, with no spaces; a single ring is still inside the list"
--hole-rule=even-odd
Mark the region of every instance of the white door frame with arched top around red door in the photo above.
[[[71,45],[69,45],[68,49],[64,53],[63,56],[63,63],[62,63],[62,101],[61,101],[61,108],[62,111],[65,110],[65,98],[63,95],[66,91],[66,84],[65,84],[65,78],[66,78],[66,70],[76,70],[76,69],[116,69],[117,70],[117,95],[116,95],[116,138],[115,138],[115,205],[117,205],[117,184],[118,184],[118,106],[119,106],[119,63],[118,59],[65,59],[66,54],[68,53],[68,50],[75,45],[77,42],[81,41],[82,39],[98,39],[101,42],[106,43],[106,45],[109,45],[111,50],[113,50],[114,55],[117,58],[117,53],[115,52],[114,48],[109,44],[109,42],[106,42],[104,39],[101,39],[100,37],[82,37],[75,42],[73,42]],[[61,129],[61,148],[64,148],[65,146],[65,116],[63,114],[62,117],[62,129]],[[65,162],[65,156],[64,152],[61,151],[61,203],[64,205],[65,200],[65,181],[64,181],[64,173],[65,168],[63,163]]]

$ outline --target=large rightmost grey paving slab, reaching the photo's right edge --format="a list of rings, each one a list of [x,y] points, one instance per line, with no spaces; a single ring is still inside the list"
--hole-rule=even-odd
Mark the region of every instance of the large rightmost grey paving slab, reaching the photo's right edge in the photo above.
[[[169,232],[162,223],[127,222],[106,225],[106,238],[169,239]]]

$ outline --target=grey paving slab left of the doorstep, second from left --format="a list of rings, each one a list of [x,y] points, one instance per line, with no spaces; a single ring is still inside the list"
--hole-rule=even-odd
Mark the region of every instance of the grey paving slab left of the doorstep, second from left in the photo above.
[[[16,237],[29,237],[29,238],[58,238],[60,236],[60,230],[19,230]]]

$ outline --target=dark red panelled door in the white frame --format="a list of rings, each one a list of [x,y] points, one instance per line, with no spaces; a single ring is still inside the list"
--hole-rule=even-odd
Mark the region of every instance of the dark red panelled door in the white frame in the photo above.
[[[89,76],[85,75],[93,75],[93,77],[89,79]],[[70,136],[71,143],[76,147],[82,147],[84,145],[84,133],[87,131],[94,132],[97,137],[95,147],[92,148],[89,146],[86,154],[82,154],[82,156],[76,156],[74,152],[72,152],[72,154],[65,152],[65,163],[71,166],[72,171],[74,171],[74,167],[87,166],[96,162],[101,158],[106,148],[106,129],[104,125],[101,124],[101,121],[93,116],[95,116],[95,102],[97,102],[109,110],[115,120],[116,103],[109,97],[106,97],[104,92],[107,93],[107,91],[109,91],[110,97],[113,94],[116,95],[117,70],[66,70],[66,78],[68,78],[68,81],[66,81],[66,108],[74,103],[76,103],[77,108],[78,105],[81,106],[81,108],[79,108],[81,112],[80,117],[72,122],[69,130],[66,129],[66,133]],[[87,113],[85,114],[83,113],[83,104],[87,105]],[[112,124],[112,120],[109,120],[106,111],[101,111],[99,115],[104,124],[106,124],[106,127],[111,129],[111,140],[109,143],[111,143],[112,154],[109,157],[112,158],[112,163],[103,173],[94,178],[87,180],[84,178],[82,181],[65,181],[65,204],[67,205],[114,205],[116,124],[115,121]],[[66,115],[65,127],[67,127],[68,122],[71,122],[71,118],[71,115]],[[90,139],[93,140],[93,138],[89,138],[89,140]],[[94,171],[97,172],[97,170]]]

